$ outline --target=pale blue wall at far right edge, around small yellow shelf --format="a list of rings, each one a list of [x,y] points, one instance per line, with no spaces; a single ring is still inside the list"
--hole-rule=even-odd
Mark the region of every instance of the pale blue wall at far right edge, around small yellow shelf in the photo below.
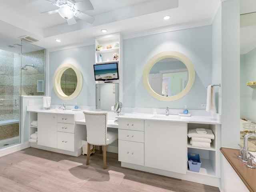
[[[240,61],[240,117],[256,122],[256,89],[246,85],[249,81],[256,81],[256,48],[241,55]]]

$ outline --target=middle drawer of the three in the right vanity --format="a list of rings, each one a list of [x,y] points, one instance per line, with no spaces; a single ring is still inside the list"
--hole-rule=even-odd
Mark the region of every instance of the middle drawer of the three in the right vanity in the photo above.
[[[144,143],[144,131],[118,130],[118,139]]]

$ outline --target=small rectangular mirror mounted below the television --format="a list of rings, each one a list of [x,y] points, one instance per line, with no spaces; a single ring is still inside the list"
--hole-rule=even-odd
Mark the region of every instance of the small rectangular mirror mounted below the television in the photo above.
[[[96,110],[113,111],[118,100],[118,83],[96,84]]]

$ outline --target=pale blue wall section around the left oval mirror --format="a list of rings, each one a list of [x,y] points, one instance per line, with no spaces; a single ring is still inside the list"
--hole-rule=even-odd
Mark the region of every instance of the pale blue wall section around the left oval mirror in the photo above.
[[[49,53],[49,96],[56,105],[94,106],[95,105],[95,81],[94,81],[94,45],[70,48]],[[53,76],[56,69],[65,63],[76,66],[82,73],[83,86],[80,94],[72,100],[58,98],[53,89]]]

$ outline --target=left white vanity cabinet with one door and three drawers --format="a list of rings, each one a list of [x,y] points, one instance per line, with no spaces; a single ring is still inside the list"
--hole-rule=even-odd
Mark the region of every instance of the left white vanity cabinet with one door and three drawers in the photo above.
[[[31,117],[35,114],[30,112]],[[82,112],[38,112],[38,141],[30,143],[30,146],[72,156],[81,155],[81,141],[86,138],[86,128],[75,122],[82,118]]]

